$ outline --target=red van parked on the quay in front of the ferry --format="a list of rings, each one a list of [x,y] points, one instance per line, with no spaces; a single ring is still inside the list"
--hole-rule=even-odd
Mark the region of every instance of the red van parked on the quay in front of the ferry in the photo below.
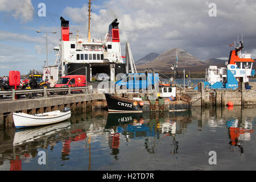
[[[60,77],[55,87],[64,87],[64,86],[85,86],[85,76],[84,75],[68,75]],[[87,86],[87,85],[86,85]]]

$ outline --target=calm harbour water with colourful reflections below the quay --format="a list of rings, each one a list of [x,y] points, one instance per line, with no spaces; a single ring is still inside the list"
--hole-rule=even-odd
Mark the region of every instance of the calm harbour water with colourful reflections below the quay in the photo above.
[[[0,170],[255,170],[255,108],[97,110],[57,125],[1,130]],[[209,164],[210,151],[216,165]]]

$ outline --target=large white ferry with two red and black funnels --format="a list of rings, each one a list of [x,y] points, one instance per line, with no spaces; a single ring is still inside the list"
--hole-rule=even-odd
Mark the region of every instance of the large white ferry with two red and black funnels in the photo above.
[[[67,75],[85,75],[86,80],[93,81],[97,73],[106,73],[110,81],[115,80],[118,73],[126,73],[125,61],[121,54],[118,20],[110,23],[104,38],[90,37],[90,9],[89,0],[88,36],[74,37],[69,29],[69,20],[60,17],[61,39],[56,46],[55,65],[59,68],[59,77]]]

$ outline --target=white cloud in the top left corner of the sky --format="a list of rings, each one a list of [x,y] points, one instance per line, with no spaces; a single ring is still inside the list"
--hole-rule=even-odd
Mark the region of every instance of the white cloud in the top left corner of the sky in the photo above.
[[[34,15],[31,0],[1,0],[0,11],[11,13],[15,19],[20,18],[22,22],[32,20]]]

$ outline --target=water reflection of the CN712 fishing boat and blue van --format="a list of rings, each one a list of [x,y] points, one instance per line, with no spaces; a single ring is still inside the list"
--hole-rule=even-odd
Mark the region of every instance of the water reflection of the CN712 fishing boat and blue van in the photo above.
[[[176,133],[180,134],[191,123],[190,111],[181,113],[109,113],[106,130],[109,134],[109,147],[112,155],[118,159],[121,135],[125,136],[126,142],[133,139],[144,139],[144,147],[149,154],[155,154],[160,140],[172,138],[173,146],[171,154],[177,154],[178,142]],[[177,129],[178,127],[178,129]]]

